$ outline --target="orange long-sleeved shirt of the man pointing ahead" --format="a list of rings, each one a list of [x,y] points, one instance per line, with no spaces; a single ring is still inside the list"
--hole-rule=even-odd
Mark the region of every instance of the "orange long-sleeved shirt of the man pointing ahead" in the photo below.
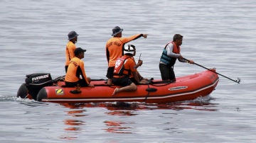
[[[142,37],[142,34],[132,35],[129,38],[110,38],[106,44],[108,67],[114,67],[117,58],[122,56],[122,48],[124,47],[125,43],[136,40],[140,37]]]

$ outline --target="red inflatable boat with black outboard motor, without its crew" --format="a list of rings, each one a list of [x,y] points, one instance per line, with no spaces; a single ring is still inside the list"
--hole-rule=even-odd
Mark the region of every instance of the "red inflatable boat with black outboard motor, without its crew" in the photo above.
[[[175,82],[151,80],[149,84],[137,85],[137,91],[121,92],[114,96],[112,93],[117,86],[108,86],[105,79],[92,80],[93,88],[79,88],[65,87],[63,76],[52,80],[48,73],[29,74],[18,89],[17,96],[54,103],[189,101],[208,96],[215,89],[219,77],[215,69],[210,70],[178,77]]]

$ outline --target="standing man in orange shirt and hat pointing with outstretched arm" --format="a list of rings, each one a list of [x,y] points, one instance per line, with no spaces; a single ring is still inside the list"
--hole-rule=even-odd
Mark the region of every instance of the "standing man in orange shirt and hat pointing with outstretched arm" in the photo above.
[[[107,69],[107,84],[112,84],[112,77],[113,77],[113,71],[114,71],[114,64],[118,57],[121,57],[123,55],[122,50],[124,48],[124,44],[127,42],[130,42],[132,40],[136,40],[137,38],[144,37],[146,38],[146,34],[137,34],[132,35],[129,38],[122,37],[122,28],[119,28],[119,26],[116,26],[112,29],[112,38],[107,41],[106,44],[106,56],[107,56],[107,62],[108,62],[108,69]]]

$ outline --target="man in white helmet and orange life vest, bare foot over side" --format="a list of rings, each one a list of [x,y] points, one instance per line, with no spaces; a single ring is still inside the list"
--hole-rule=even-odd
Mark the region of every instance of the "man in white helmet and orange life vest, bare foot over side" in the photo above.
[[[124,47],[124,55],[119,57],[114,66],[112,83],[122,88],[115,88],[112,96],[122,91],[136,91],[136,84],[148,84],[149,80],[140,76],[137,67],[142,65],[142,60],[136,64],[133,56],[136,55],[134,45]]]

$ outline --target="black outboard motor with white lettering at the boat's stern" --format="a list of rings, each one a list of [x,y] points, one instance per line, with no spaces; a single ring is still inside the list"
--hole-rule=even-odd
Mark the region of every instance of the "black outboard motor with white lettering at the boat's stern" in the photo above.
[[[40,89],[45,86],[52,86],[53,80],[50,73],[28,74],[26,75],[25,84],[28,88],[28,93],[34,100],[36,100],[36,96]]]

